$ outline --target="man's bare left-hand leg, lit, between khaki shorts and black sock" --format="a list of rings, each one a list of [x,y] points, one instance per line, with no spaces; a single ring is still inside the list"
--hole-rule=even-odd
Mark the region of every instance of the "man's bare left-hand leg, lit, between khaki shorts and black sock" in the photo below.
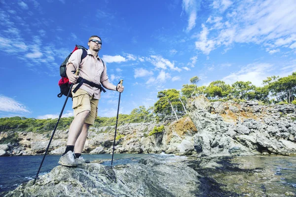
[[[89,114],[89,110],[82,111],[78,113],[74,120],[71,123],[69,135],[68,135],[68,141],[67,146],[74,146],[75,142],[82,131],[82,127],[84,125],[85,119],[87,118]],[[83,144],[84,145],[84,144]]]

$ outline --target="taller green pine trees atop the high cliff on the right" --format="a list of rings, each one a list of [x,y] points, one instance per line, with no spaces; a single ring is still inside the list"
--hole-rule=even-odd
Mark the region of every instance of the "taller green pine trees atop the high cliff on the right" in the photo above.
[[[154,113],[158,117],[186,114],[185,102],[189,98],[204,95],[209,100],[259,100],[266,104],[296,104],[296,72],[287,77],[271,76],[263,80],[262,87],[256,87],[251,81],[236,81],[229,85],[217,80],[208,86],[197,86],[199,77],[190,79],[191,84],[183,85],[181,91],[168,89],[158,92],[154,104]]]

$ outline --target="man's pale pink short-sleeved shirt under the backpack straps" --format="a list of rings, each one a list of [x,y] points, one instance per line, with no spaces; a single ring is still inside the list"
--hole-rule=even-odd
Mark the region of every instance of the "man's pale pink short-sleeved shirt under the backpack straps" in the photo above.
[[[68,60],[67,66],[69,63],[72,63],[75,69],[79,67],[79,76],[96,84],[101,85],[101,82],[108,79],[107,67],[106,65],[103,65],[99,56],[97,57],[97,60],[95,60],[94,56],[88,49],[87,56],[81,62],[81,55],[82,49],[74,51]],[[76,86],[77,84],[74,84],[73,88]],[[80,89],[85,90],[90,96],[94,95],[94,99],[101,99],[101,91],[96,87],[91,87],[90,85],[83,83]]]

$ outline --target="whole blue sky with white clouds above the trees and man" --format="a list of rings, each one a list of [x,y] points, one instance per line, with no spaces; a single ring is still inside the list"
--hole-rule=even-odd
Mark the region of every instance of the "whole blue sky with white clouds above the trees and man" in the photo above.
[[[124,80],[120,113],[193,76],[261,86],[296,71],[295,10],[295,0],[0,0],[0,117],[57,118],[59,66],[91,35],[110,81]],[[98,116],[115,116],[117,103],[107,91]]]

